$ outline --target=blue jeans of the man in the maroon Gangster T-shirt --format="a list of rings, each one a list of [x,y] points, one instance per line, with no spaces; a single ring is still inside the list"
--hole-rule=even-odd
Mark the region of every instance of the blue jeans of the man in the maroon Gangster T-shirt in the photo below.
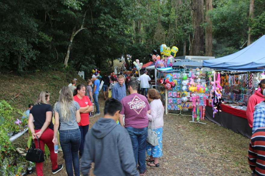
[[[144,172],[146,169],[145,144],[147,139],[147,127],[145,128],[126,127],[126,129],[129,132],[133,144],[133,153],[136,161],[136,167],[138,161],[140,172]]]

